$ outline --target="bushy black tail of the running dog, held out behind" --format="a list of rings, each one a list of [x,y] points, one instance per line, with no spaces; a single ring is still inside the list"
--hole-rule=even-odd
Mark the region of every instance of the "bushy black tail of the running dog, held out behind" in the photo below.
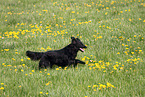
[[[26,51],[26,56],[28,56],[31,60],[34,60],[34,61],[41,59],[43,54],[44,54],[44,52]]]

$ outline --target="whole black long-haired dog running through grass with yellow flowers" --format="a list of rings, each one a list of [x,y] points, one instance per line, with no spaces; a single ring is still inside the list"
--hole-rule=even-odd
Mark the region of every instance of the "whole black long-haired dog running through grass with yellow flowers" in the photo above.
[[[62,68],[73,64],[75,67],[77,63],[85,64],[85,62],[75,59],[77,52],[80,50],[84,52],[82,48],[87,48],[78,38],[71,37],[72,42],[60,50],[53,50],[47,52],[31,52],[27,51],[26,55],[31,60],[39,60],[39,69],[42,67],[50,67],[53,65],[61,66]]]

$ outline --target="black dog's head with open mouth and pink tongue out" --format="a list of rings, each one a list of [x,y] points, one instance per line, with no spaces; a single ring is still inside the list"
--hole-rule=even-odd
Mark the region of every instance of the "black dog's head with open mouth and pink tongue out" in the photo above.
[[[83,48],[87,48],[87,46],[85,46],[78,38],[71,37],[71,39],[72,44],[75,45],[81,52],[84,52]]]

